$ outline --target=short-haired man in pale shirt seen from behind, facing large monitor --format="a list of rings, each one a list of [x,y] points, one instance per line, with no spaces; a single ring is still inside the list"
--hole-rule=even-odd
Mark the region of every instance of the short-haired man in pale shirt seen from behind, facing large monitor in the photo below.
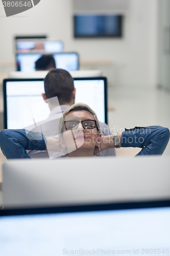
[[[46,120],[37,123],[35,129],[31,130],[42,133],[45,131],[45,136],[56,138],[57,132],[55,127],[57,125],[57,120],[61,116],[62,112],[68,109],[70,105],[75,103],[76,89],[74,87],[74,79],[67,71],[63,69],[51,70],[44,78],[44,91],[45,93],[42,93],[42,97],[48,103],[51,113]],[[49,100],[47,101],[47,99],[54,97],[58,98],[59,104],[54,104],[54,102],[50,103]],[[111,135],[109,126],[106,123],[100,122],[100,129],[102,135]],[[27,151],[27,153],[31,158],[52,159],[61,156],[57,152],[46,151]],[[101,152],[100,156],[115,156],[115,149],[109,148],[108,150]]]

